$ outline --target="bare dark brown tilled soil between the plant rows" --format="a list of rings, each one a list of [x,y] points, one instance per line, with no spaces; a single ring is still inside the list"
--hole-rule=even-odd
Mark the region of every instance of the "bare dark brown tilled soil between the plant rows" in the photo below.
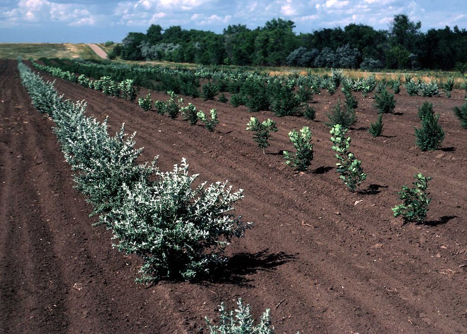
[[[207,112],[217,108],[211,133],[57,80],[66,98],[87,101],[89,115],[109,116],[112,133],[123,122],[137,131],[145,160],[160,155],[164,170],[185,157],[200,179],[245,189],[237,213],[255,227],[229,246],[223,276],[144,286],[134,282],[138,259],[112,249],[111,232],[92,226],[53,122],[31,106],[16,66],[0,63],[2,331],[198,333],[221,301],[233,308],[242,297],[255,317],[271,308],[276,333],[467,332],[467,132],[451,111],[463,104],[463,91],[428,99],[446,132],[443,148],[432,152],[421,152],[413,135],[425,98],[403,90],[396,114],[384,115],[385,136],[372,138],[373,100],[357,94],[359,121],[348,134],[368,178],[351,193],[333,170],[324,124],[341,92],[314,96],[316,122],[185,98]],[[252,115],[279,128],[265,155],[245,130]],[[297,174],[280,153],[291,149],[287,133],[303,125],[311,127],[315,158]],[[403,225],[390,208],[418,171],[433,178],[428,221]]]

